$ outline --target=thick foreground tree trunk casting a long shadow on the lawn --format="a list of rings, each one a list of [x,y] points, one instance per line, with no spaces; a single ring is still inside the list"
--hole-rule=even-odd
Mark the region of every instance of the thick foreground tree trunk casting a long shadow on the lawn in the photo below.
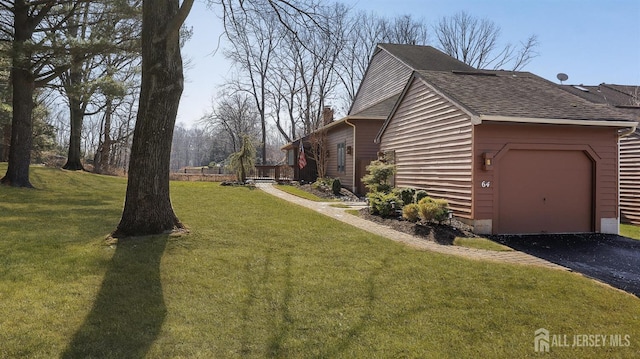
[[[134,129],[129,182],[114,237],[183,228],[169,196],[171,139],[183,89],[179,30],[193,0],[144,0],[142,87]],[[184,12],[186,11],[186,13]]]

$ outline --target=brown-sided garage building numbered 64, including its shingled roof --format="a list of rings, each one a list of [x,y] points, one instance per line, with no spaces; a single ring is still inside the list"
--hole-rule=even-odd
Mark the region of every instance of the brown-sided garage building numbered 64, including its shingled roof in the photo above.
[[[416,71],[376,141],[396,185],[477,233],[618,233],[618,138],[634,118],[527,72]]]

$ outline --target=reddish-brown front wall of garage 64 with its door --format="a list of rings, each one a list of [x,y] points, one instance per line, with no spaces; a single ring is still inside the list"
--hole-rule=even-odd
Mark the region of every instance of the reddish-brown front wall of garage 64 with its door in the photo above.
[[[617,137],[616,126],[475,126],[477,232],[617,233]]]

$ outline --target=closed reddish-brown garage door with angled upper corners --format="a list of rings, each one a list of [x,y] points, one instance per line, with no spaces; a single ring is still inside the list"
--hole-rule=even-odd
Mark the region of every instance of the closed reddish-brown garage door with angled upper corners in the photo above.
[[[583,151],[510,150],[499,171],[498,233],[593,230],[593,162]]]

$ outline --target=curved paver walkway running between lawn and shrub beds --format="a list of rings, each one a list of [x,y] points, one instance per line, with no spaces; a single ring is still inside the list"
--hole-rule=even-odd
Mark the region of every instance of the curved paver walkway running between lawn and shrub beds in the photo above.
[[[470,258],[470,259],[490,260],[490,261],[498,261],[498,262],[504,262],[504,263],[525,264],[525,265],[543,266],[547,268],[554,268],[554,269],[561,269],[561,270],[569,270],[555,263],[551,263],[544,259],[534,257],[518,251],[497,252],[497,251],[488,251],[483,249],[441,245],[441,244],[428,241],[416,236],[412,236],[410,234],[399,232],[387,226],[383,226],[378,223],[371,222],[366,219],[362,219],[360,217],[348,214],[345,212],[344,208],[331,207],[331,204],[335,204],[335,202],[331,203],[331,202],[310,201],[310,200],[300,198],[292,194],[280,191],[279,189],[274,188],[273,185],[271,185],[270,183],[258,183],[257,187],[263,190],[264,192],[272,194],[276,197],[280,197],[289,202],[293,202],[300,206],[313,209],[326,216],[335,218],[339,221],[348,223],[352,226],[358,227],[365,231],[389,238],[396,242],[405,243],[409,246],[412,246],[418,249],[429,250],[429,251],[438,252],[438,253],[451,254],[451,255]],[[348,202],[345,202],[345,203],[348,204]],[[364,206],[364,203],[354,203],[352,204],[352,206],[353,208],[362,208]]]

